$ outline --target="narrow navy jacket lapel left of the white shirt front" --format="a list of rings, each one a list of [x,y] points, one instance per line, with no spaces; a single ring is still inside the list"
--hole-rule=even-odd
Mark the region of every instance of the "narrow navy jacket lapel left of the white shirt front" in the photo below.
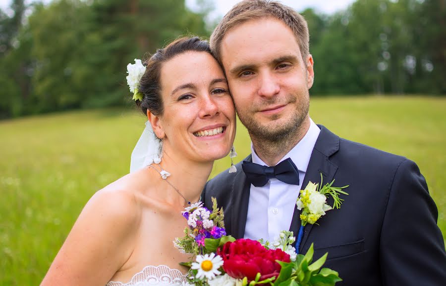
[[[252,162],[251,155],[243,161]],[[241,163],[237,164],[237,174],[232,186],[231,235],[243,238],[245,235],[246,217],[248,216],[249,191],[251,184],[246,180]]]

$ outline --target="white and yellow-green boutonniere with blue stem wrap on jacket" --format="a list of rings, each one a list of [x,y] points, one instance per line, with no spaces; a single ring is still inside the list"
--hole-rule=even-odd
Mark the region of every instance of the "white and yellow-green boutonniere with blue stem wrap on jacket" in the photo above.
[[[347,188],[349,185],[343,187],[334,187],[334,182],[335,180],[323,186],[321,174],[321,184],[309,182],[305,189],[300,190],[300,196],[296,202],[297,209],[302,210],[302,213],[300,214],[301,226],[297,235],[296,242],[297,251],[303,237],[305,225],[307,225],[307,223],[315,224],[318,219],[321,218],[321,216],[326,214],[326,211],[334,208],[340,208],[342,201],[344,200],[339,198],[339,194],[348,195],[346,192],[342,191],[342,189]],[[334,200],[333,206],[330,206],[326,203],[329,196],[332,196]]]

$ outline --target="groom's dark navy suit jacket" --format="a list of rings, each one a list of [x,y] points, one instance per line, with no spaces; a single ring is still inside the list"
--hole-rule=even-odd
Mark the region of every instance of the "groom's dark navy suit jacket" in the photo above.
[[[300,253],[314,243],[315,256],[329,253],[324,267],[339,272],[336,285],[446,285],[446,253],[437,226],[438,210],[429,196],[418,166],[406,158],[339,138],[324,126],[311,154],[302,184],[350,185],[345,201],[307,224]],[[248,156],[245,161],[251,161]],[[202,194],[224,209],[228,234],[243,238],[250,183],[241,167],[210,180]],[[298,190],[296,190],[298,192]],[[331,199],[331,198],[330,198]],[[329,204],[333,200],[329,199]],[[295,209],[290,230],[297,235],[300,211]]]

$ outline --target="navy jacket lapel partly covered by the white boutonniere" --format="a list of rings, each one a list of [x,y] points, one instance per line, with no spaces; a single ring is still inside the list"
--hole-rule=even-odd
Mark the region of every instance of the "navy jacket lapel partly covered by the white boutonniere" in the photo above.
[[[304,180],[301,185],[301,189],[305,188],[308,182],[321,183],[321,173],[323,178],[323,184],[329,183],[333,180],[337,166],[333,164],[329,158],[339,150],[339,137],[330,132],[322,125],[318,125],[321,128],[318,140],[311,153],[310,162],[308,163],[307,171],[305,173]],[[291,220],[290,231],[294,232],[297,236],[300,227],[300,210],[297,207],[294,208],[293,218]],[[305,226],[304,236],[300,244],[300,249],[305,249],[305,243],[308,240],[312,224]],[[298,250],[300,250],[298,249]],[[299,251],[301,253],[301,251]]]

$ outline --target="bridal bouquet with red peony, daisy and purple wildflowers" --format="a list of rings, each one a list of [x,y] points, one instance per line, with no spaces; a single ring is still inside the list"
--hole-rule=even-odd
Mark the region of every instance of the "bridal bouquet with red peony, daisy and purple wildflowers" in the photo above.
[[[330,286],[341,281],[336,271],[322,268],[326,253],[313,260],[313,245],[305,255],[296,254],[291,245],[292,232],[282,231],[270,243],[250,239],[235,240],[226,235],[223,209],[212,198],[212,211],[202,203],[192,204],[183,211],[188,227],[184,237],[173,242],[195,261],[181,263],[190,268],[189,283],[200,286]]]

